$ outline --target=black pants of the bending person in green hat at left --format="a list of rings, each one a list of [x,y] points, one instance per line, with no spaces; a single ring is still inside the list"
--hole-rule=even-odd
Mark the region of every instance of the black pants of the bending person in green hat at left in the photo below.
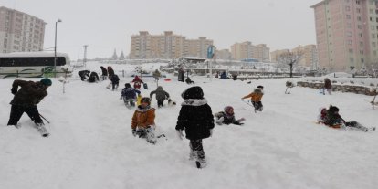
[[[25,107],[12,105],[8,125],[16,125],[17,122],[20,121],[21,116],[22,114],[24,114],[24,112],[26,112],[30,119],[36,124],[43,123],[41,117],[39,116],[37,106]]]

